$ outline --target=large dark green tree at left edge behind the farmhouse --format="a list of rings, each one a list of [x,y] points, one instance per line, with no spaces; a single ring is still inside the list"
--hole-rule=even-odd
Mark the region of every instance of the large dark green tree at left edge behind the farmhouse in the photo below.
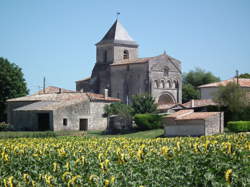
[[[0,121],[5,120],[6,100],[28,94],[21,68],[0,57]]]

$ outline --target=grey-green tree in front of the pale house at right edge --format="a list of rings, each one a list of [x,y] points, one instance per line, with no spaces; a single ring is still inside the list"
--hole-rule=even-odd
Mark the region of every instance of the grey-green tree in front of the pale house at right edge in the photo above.
[[[237,83],[230,82],[219,87],[213,100],[221,107],[227,107],[232,120],[239,120],[249,105],[246,97],[246,92]]]

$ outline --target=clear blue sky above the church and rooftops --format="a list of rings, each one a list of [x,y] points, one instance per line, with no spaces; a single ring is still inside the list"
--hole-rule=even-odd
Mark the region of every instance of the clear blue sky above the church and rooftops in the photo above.
[[[222,80],[250,72],[250,0],[0,0],[0,57],[22,68],[30,93],[43,77],[75,90],[117,12],[139,57],[165,50],[183,72],[199,67]]]

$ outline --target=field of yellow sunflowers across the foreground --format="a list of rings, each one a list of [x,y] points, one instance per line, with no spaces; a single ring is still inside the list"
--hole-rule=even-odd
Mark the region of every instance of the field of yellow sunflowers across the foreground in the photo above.
[[[0,186],[249,186],[250,135],[0,139]]]

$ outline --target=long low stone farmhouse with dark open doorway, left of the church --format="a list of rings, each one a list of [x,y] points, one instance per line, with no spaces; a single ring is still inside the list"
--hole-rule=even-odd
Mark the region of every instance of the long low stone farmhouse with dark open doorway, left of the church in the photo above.
[[[45,93],[9,99],[8,123],[15,130],[105,130],[104,106],[117,101],[107,95],[49,87]]]

